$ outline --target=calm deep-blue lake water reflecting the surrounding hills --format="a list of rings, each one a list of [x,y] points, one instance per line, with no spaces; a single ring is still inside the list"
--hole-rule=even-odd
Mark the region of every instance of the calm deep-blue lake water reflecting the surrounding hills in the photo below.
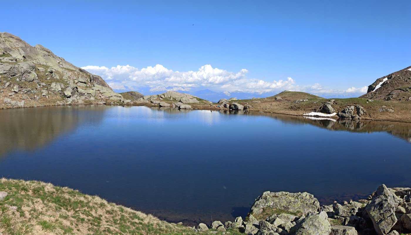
[[[99,195],[186,224],[245,216],[263,191],[321,203],[411,186],[411,125],[72,106],[0,110],[0,176]]]

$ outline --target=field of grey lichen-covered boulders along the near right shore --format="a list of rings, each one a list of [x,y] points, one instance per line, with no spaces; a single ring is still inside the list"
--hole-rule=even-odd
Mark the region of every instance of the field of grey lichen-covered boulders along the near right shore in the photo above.
[[[334,202],[320,206],[307,192],[264,192],[247,217],[237,217],[211,228],[236,228],[248,235],[399,235],[411,233],[411,188],[387,188],[384,184],[358,202]],[[199,224],[194,231],[206,231]]]

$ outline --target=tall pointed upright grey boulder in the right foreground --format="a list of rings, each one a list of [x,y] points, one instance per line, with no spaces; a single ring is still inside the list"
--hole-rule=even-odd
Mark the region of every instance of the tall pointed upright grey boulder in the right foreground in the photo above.
[[[374,229],[378,235],[386,235],[397,223],[395,208],[400,199],[384,184],[379,186],[374,193],[372,201],[365,207]]]

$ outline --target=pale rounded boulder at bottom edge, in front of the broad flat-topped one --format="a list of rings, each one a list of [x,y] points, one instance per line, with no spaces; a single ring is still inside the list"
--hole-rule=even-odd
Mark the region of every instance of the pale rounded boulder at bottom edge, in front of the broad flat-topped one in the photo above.
[[[293,235],[330,235],[330,233],[331,225],[326,212],[309,215],[291,228]]]

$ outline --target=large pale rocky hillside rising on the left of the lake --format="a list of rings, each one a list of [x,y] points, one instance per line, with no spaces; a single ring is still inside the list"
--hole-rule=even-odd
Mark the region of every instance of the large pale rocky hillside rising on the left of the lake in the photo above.
[[[124,102],[101,77],[0,33],[0,108]]]

